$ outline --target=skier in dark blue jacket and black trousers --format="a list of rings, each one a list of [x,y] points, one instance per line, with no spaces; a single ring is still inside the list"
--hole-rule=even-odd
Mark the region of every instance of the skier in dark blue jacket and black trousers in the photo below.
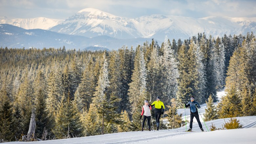
[[[190,101],[188,103],[186,103],[186,102],[184,103],[185,107],[188,107],[188,106],[190,107],[190,124],[189,124],[188,131],[192,131],[192,123],[193,123],[194,117],[196,117],[198,125],[199,125],[201,131],[203,131],[203,127],[202,127],[202,124],[200,122],[198,111],[197,111],[197,108],[200,109],[201,107],[198,104],[198,102],[194,101],[194,99],[195,99],[194,97],[191,97]]]

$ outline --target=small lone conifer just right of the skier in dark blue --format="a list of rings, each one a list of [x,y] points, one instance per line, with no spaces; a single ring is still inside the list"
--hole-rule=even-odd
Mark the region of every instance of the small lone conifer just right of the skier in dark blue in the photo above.
[[[209,121],[209,120],[214,120],[217,119],[217,110],[216,110],[216,106],[213,103],[213,99],[212,96],[210,95],[208,98],[208,102],[206,102],[206,109],[205,109],[205,113],[203,114],[204,120],[205,121]]]

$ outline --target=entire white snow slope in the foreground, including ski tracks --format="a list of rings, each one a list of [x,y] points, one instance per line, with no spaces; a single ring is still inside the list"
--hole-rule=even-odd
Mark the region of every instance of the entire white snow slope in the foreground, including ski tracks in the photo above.
[[[197,143],[197,144],[255,144],[256,143],[256,116],[237,117],[243,129],[217,130],[210,132],[201,132],[198,124],[193,124],[194,132],[184,132],[186,127],[178,129],[159,130],[159,131],[137,131],[124,132],[106,135],[95,135],[88,137],[78,137],[69,139],[47,140],[38,142],[29,142],[29,144],[118,144],[118,143],[147,143],[147,144],[178,144],[178,143]],[[225,120],[228,120],[225,119]],[[205,124],[208,129],[211,123],[217,128],[222,128],[224,119],[207,121]],[[203,124],[203,129],[207,131]],[[7,142],[6,144],[28,144],[28,142]]]

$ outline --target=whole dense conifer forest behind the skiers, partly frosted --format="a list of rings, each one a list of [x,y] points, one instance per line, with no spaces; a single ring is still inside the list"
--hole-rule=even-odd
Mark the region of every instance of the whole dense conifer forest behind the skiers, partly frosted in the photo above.
[[[215,107],[224,88],[227,95]],[[163,129],[181,126],[177,109],[191,96],[207,104],[205,120],[256,115],[255,35],[200,33],[117,51],[0,48],[5,141],[21,141],[30,125],[29,140],[137,131],[144,100],[151,104],[157,96],[170,121]]]

